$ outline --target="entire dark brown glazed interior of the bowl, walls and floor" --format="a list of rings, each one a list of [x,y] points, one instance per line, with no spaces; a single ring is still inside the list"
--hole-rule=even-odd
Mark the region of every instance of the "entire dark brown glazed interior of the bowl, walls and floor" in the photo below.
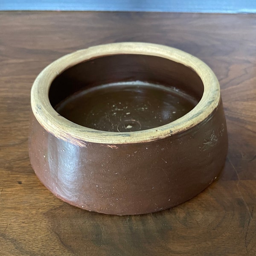
[[[204,85],[189,67],[151,55],[109,55],[68,68],[49,89],[66,119],[101,131],[156,128],[200,101]]]

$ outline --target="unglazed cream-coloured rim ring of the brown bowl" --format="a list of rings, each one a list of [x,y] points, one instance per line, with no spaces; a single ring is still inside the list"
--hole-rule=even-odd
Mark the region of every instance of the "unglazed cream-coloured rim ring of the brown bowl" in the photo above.
[[[49,87],[58,74],[82,61],[116,54],[154,55],[192,68],[204,84],[204,93],[200,102],[189,113],[169,124],[134,132],[107,132],[86,128],[65,119],[52,108],[48,97]],[[202,122],[217,108],[219,101],[220,87],[218,80],[203,61],[172,47],[137,42],[99,45],[65,55],[49,64],[38,75],[31,90],[32,111],[38,122],[55,137],[80,146],[86,146],[86,142],[123,144],[163,139]]]

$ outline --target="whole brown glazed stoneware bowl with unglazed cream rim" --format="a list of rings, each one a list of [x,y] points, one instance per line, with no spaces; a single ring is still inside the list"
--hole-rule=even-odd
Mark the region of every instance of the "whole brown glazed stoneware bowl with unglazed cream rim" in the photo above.
[[[89,211],[174,207],[212,183],[227,155],[218,80],[171,47],[116,43],[73,52],[39,74],[31,105],[36,175]]]

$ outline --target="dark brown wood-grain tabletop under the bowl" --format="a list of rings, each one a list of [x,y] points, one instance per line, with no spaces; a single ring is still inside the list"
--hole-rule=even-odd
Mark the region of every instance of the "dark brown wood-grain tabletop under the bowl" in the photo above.
[[[218,180],[178,207],[103,215],[55,198],[29,162],[30,89],[50,62],[119,41],[201,58],[221,84],[229,151]],[[256,15],[0,13],[0,255],[256,255]],[[218,159],[217,159],[218,161]]]

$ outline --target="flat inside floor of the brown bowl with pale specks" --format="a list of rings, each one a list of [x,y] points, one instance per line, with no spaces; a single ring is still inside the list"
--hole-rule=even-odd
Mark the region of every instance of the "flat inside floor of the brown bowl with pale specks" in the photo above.
[[[62,100],[55,110],[88,128],[129,132],[166,125],[184,116],[197,103],[175,87],[128,81],[85,88]]]

